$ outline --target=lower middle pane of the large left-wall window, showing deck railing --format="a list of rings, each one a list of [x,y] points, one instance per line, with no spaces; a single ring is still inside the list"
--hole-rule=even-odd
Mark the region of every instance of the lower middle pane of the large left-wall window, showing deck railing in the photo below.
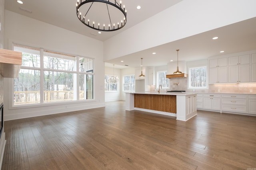
[[[73,100],[74,76],[76,74],[44,71],[44,102]]]

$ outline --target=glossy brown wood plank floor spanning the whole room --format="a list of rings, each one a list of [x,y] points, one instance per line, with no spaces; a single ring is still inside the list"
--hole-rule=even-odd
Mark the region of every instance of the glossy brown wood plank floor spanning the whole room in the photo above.
[[[248,170],[256,117],[198,111],[188,120],[106,107],[5,121],[2,170]]]

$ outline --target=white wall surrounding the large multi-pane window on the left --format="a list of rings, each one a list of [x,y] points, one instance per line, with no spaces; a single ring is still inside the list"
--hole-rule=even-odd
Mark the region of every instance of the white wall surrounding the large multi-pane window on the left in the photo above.
[[[94,58],[95,100],[46,104],[44,107],[12,107],[13,92],[10,88],[13,85],[12,79],[4,78],[5,120],[105,106],[103,43],[101,41],[5,10],[4,47],[12,49],[12,42]]]

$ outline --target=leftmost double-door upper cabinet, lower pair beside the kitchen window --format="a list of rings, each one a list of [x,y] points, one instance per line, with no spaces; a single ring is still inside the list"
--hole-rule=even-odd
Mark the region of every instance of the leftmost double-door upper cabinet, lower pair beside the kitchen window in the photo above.
[[[209,69],[209,83],[226,83],[228,82],[228,68],[218,67]]]

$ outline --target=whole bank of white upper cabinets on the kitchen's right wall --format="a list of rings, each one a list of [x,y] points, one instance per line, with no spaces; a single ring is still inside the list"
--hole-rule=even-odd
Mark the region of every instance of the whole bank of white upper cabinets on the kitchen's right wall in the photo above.
[[[256,82],[256,53],[209,58],[209,84]]]

